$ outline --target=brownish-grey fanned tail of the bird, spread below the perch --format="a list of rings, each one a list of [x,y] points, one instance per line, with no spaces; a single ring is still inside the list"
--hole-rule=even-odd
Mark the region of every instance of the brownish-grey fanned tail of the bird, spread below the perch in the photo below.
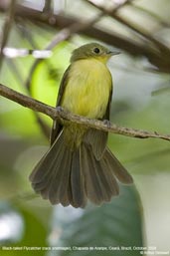
[[[119,192],[116,178],[125,184],[132,182],[109,149],[99,160],[85,142],[72,150],[64,140],[64,130],[30,175],[34,190],[43,198],[76,208],[84,208],[87,199],[95,204],[110,201]]]

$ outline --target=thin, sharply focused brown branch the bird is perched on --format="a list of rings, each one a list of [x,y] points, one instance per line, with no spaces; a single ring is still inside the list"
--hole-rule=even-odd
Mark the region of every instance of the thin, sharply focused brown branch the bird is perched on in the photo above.
[[[146,130],[134,129],[134,128],[121,128],[114,124],[108,124],[98,120],[86,119],[84,117],[80,117],[80,116],[68,113],[61,107],[58,107],[58,108],[50,107],[44,103],[34,100],[31,97],[22,95],[1,84],[0,84],[0,95],[26,108],[29,108],[35,112],[43,113],[46,116],[49,116],[50,118],[52,118],[53,120],[59,119],[65,122],[76,123],[78,125],[82,125],[88,128],[101,129],[101,130],[109,131],[112,133],[117,133],[117,134],[131,136],[131,137],[138,137],[138,138],[155,137],[155,138],[161,138],[161,139],[170,141],[170,134],[160,134],[156,131],[149,132]]]

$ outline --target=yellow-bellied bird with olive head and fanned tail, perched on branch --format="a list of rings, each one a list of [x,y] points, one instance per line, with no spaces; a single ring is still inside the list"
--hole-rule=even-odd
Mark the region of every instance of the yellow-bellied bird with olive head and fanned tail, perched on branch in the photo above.
[[[116,54],[99,43],[75,49],[56,107],[109,122],[112,77],[106,65]],[[29,177],[35,192],[53,205],[75,208],[109,202],[119,194],[119,182],[131,184],[133,178],[107,147],[107,136],[107,131],[55,120],[50,148]]]

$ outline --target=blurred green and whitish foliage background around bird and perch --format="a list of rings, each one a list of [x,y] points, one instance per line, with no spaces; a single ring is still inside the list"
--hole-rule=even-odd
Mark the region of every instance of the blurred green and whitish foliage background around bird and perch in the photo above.
[[[0,83],[55,106],[72,51],[99,42],[121,52],[108,64],[111,122],[170,133],[169,14],[169,0],[1,0]],[[100,207],[64,208],[28,180],[51,125],[0,97],[0,255],[170,255],[169,141],[110,134],[134,185]]]

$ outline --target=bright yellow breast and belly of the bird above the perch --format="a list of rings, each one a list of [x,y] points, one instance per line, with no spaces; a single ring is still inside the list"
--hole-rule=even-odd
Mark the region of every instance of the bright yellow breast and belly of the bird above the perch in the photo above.
[[[107,67],[95,59],[77,61],[72,64],[68,81],[62,107],[86,118],[102,118],[112,87]]]

